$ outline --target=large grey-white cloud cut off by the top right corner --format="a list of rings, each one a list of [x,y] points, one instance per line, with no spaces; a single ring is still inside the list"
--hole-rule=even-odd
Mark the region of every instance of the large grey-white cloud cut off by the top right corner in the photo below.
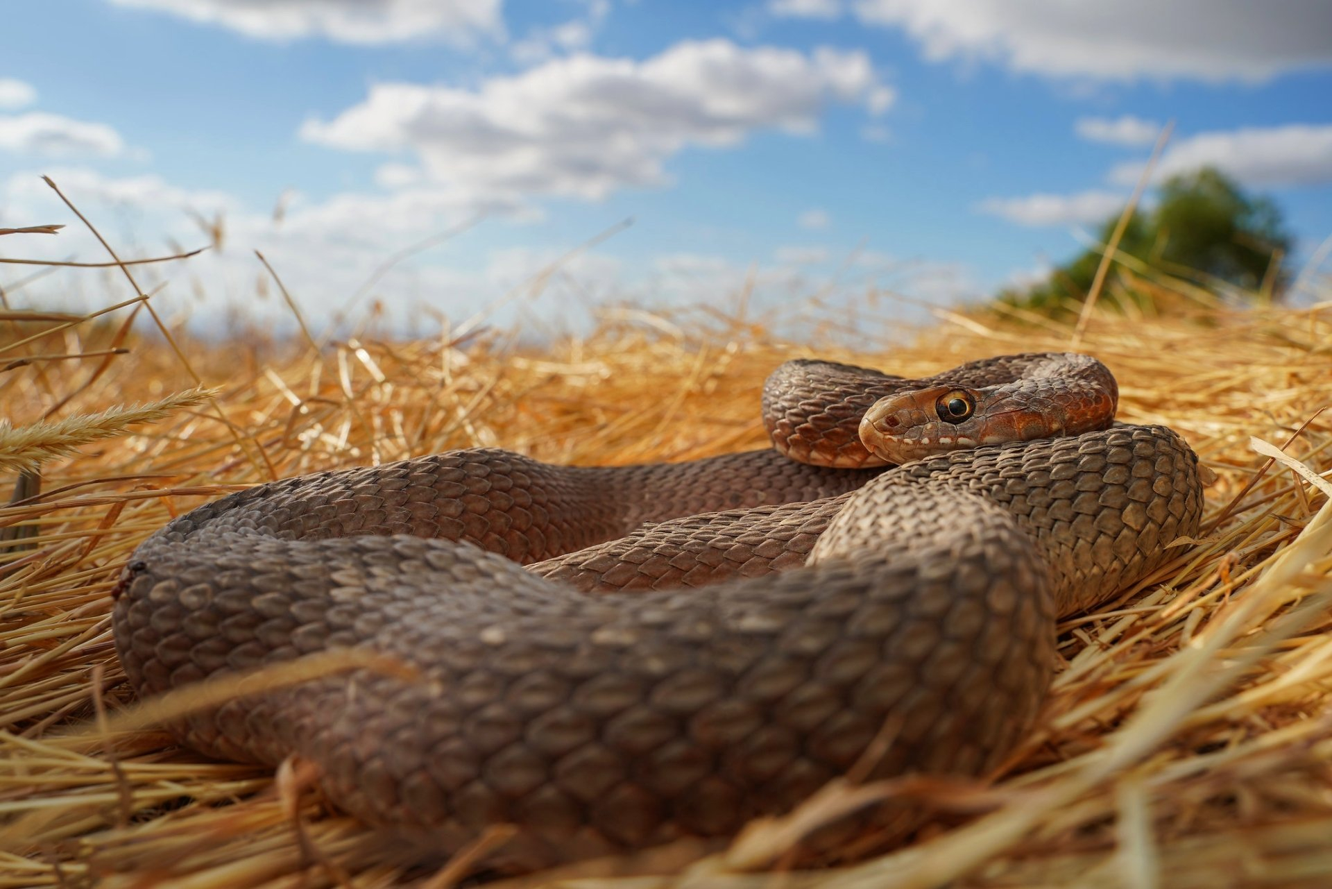
[[[1263,81],[1332,65],[1332,4],[1289,0],[856,0],[926,57],[986,59],[1063,77]]]

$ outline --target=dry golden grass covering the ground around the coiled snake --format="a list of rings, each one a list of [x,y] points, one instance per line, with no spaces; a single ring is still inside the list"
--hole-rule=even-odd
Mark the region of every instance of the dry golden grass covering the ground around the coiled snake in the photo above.
[[[1082,348],[1116,372],[1123,420],[1172,425],[1216,472],[1205,526],[1150,582],[1066,622],[1048,708],[999,780],[830,788],[722,854],[675,850],[667,876],[611,864],[566,885],[1332,884],[1332,415],[1319,416],[1332,404],[1332,304],[1237,311],[1181,281],[1131,285],[1169,316],[1098,312]],[[131,331],[133,311],[109,324],[0,315],[0,363],[13,365],[0,404],[15,427],[0,429],[0,481],[47,460],[45,492],[0,509],[0,529],[28,534],[0,542],[0,886],[445,886],[464,869],[378,861],[376,837],[330,812],[301,768],[206,761],[132,700],[108,593],[140,540],[205,498],[476,445],[582,464],[761,446],[759,387],[785,359],[918,373],[1072,336],[1039,319],[943,313],[914,344],[851,351],[832,325],[791,344],[741,319],[698,332],[635,315],[543,349],[481,332],[316,352],[181,332],[169,345]],[[176,399],[200,381],[213,393]],[[125,403],[157,412],[97,415]],[[36,425],[52,413],[60,427]],[[911,848],[765,870],[821,818],[890,793],[939,812]]]

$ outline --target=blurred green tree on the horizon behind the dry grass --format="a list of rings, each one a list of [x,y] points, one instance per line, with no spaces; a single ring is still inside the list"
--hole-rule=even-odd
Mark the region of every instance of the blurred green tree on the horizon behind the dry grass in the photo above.
[[[1110,241],[1118,223],[1118,217],[1106,221],[1099,243]],[[1199,272],[1248,292],[1257,292],[1268,275],[1276,273],[1271,285],[1279,293],[1284,280],[1277,267],[1289,245],[1291,236],[1271,200],[1245,195],[1208,167],[1168,179],[1155,208],[1135,212],[1128,220],[1119,252],[1166,272]],[[1075,309],[1087,299],[1100,261],[1100,251],[1084,251],[1046,281],[1024,292],[1006,291],[999,299],[1052,313]]]

